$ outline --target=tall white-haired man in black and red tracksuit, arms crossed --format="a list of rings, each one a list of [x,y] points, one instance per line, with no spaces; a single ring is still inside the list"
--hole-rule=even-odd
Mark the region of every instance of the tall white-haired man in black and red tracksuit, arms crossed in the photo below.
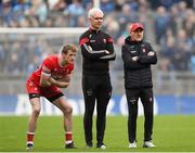
[[[90,28],[79,38],[83,58],[82,91],[84,97],[83,127],[87,148],[92,148],[92,118],[96,100],[96,148],[105,149],[103,143],[106,123],[106,107],[112,95],[109,61],[115,60],[113,39],[100,28],[103,12],[91,9],[88,13]]]

